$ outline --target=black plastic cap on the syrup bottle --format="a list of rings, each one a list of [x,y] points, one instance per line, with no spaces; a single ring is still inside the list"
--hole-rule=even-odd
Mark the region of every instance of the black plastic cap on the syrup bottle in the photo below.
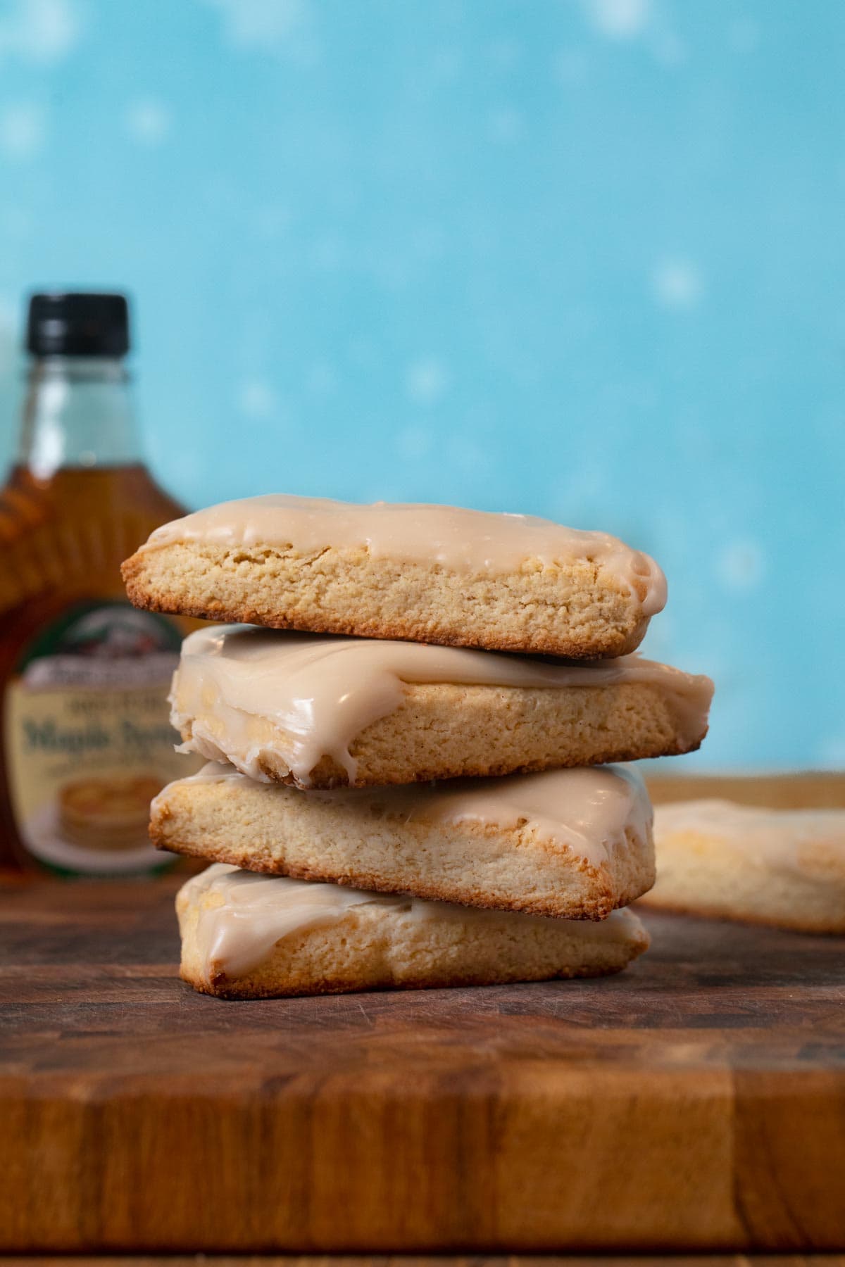
[[[27,351],[33,356],[124,356],[129,351],[127,296],[92,291],[30,295]]]

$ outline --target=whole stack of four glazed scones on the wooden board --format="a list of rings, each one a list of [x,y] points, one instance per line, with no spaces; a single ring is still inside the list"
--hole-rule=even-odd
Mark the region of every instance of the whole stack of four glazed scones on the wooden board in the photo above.
[[[708,678],[635,655],[665,603],[614,537],[518,514],[231,502],[123,566],[182,645],[199,774],[153,801],[182,977],[233,998],[618,972],[647,946],[642,758],[707,732]],[[245,627],[251,626],[251,627]]]

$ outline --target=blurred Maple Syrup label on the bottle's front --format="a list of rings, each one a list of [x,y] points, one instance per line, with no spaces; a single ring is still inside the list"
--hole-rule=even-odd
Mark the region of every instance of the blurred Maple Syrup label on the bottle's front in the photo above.
[[[6,777],[18,834],[65,872],[156,869],[149,801],[195,764],[174,751],[167,692],[181,634],[124,602],[77,603],[9,680]]]

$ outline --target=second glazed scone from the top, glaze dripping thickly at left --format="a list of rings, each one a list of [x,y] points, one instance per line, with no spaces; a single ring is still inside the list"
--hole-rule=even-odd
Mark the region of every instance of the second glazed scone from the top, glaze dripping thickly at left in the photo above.
[[[185,639],[170,702],[182,751],[327,788],[688,753],[712,693],[636,655],[561,664],[215,626]]]

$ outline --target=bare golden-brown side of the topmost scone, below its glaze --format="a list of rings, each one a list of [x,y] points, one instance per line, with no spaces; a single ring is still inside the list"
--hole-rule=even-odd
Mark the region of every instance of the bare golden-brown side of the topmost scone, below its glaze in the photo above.
[[[180,542],[134,554],[122,575],[136,607],[176,616],[570,659],[627,655],[649,625],[645,582],[635,580],[636,598],[625,597],[603,588],[594,566],[587,570],[593,593],[575,585],[564,595],[550,583],[541,592],[522,575],[492,580],[436,566],[379,566],[365,550],[300,556],[270,546],[210,551]],[[509,584],[513,593],[499,606]],[[569,607],[568,627],[550,630]]]

